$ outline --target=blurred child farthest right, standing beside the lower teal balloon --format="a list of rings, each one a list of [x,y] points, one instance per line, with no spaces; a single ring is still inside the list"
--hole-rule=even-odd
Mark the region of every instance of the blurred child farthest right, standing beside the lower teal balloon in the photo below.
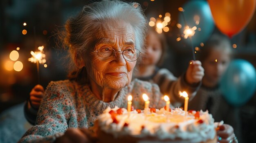
[[[202,62],[204,77],[202,86],[189,102],[189,110],[208,110],[215,121],[223,120],[224,123],[231,125],[238,139],[241,139],[238,109],[227,104],[219,88],[220,78],[231,59],[229,39],[223,35],[212,35],[200,49],[197,57]]]

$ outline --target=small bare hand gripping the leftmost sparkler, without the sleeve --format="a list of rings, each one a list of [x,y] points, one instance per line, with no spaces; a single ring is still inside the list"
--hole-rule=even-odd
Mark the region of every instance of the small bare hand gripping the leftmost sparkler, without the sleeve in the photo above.
[[[29,95],[32,104],[31,106],[34,108],[39,108],[43,96],[45,95],[45,90],[43,86],[38,84],[31,90]]]

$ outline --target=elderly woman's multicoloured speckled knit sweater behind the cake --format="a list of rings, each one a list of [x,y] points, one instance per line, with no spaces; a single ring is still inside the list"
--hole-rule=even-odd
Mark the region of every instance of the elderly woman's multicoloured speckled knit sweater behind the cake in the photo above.
[[[143,109],[143,93],[150,98],[150,107],[162,108],[165,105],[159,87],[139,79],[122,88],[115,100],[109,103],[99,100],[88,85],[80,85],[70,80],[52,81],[47,86],[36,125],[27,130],[19,142],[52,143],[67,128],[90,128],[97,116],[108,106],[126,108],[128,95],[133,96],[132,106]]]

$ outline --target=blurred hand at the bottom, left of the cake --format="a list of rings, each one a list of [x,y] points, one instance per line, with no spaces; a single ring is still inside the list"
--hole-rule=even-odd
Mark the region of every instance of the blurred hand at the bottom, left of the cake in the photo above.
[[[68,128],[63,136],[56,139],[55,143],[94,143],[96,138],[85,128]]]

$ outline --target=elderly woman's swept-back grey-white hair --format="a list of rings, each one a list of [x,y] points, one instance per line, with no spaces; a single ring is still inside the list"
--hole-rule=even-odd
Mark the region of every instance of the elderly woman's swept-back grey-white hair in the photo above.
[[[106,21],[121,21],[131,24],[135,33],[135,47],[142,51],[146,36],[146,18],[138,3],[118,0],[102,0],[83,7],[83,11],[66,23],[66,43],[71,56],[80,55],[94,48],[97,29]]]

